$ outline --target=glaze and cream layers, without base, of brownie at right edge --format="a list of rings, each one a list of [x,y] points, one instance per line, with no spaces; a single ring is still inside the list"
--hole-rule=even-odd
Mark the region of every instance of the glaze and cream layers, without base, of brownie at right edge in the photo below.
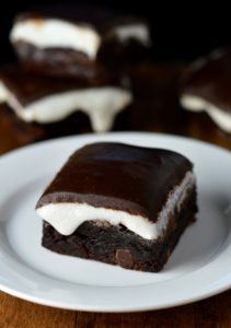
[[[181,104],[189,112],[206,112],[223,132],[231,133],[231,49],[199,58],[183,74]]]

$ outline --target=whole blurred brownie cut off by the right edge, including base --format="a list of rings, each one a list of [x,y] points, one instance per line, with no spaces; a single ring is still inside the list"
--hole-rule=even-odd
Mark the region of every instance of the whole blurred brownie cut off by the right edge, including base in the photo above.
[[[190,112],[193,137],[223,145],[231,136],[231,49],[213,50],[189,65],[181,78],[180,99]]]

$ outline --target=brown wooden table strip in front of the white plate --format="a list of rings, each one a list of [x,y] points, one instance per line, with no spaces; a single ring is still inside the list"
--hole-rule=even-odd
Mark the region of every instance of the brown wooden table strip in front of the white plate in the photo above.
[[[175,308],[128,314],[83,313],[28,303],[0,293],[1,328],[229,328],[231,291]]]

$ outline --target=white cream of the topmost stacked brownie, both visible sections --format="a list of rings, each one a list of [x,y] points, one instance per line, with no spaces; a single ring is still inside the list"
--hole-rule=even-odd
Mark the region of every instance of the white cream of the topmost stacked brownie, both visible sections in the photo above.
[[[136,38],[149,45],[149,30],[145,24],[117,26],[112,31],[122,42]],[[27,19],[13,25],[10,34],[12,43],[26,42],[38,48],[70,48],[82,51],[95,59],[101,46],[100,34],[91,26],[77,25],[55,19]]]

